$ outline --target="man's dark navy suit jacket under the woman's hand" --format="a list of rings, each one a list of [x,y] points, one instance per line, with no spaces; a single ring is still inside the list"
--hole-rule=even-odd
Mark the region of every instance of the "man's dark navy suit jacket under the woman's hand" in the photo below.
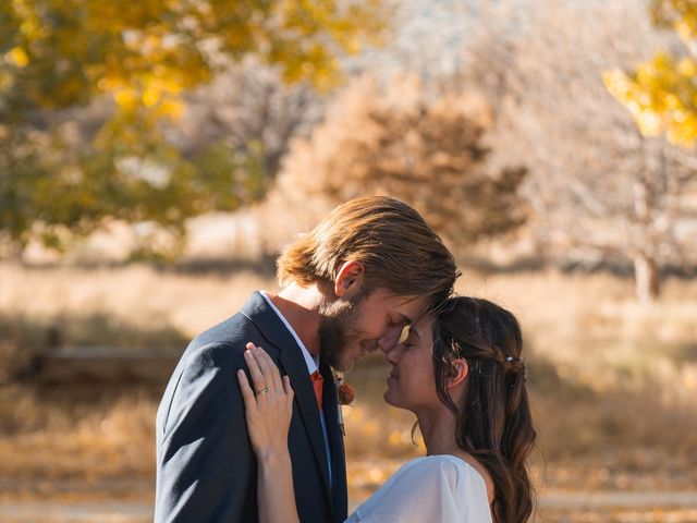
[[[301,521],[346,519],[344,446],[331,370],[320,365],[330,489],[319,411],[301,348],[255,292],[239,314],[191,342],[170,378],[157,413],[156,523],[258,520],[257,465],[236,376],[239,368],[246,369],[248,341],[270,354],[295,390],[289,448]]]

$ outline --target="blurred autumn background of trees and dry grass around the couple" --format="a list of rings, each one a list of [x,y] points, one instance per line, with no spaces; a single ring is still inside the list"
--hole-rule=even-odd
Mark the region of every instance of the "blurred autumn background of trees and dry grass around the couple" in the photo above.
[[[151,521],[188,340],[389,194],[522,321],[536,521],[697,522],[697,1],[0,2],[0,520]],[[348,376],[351,503],[423,452]]]

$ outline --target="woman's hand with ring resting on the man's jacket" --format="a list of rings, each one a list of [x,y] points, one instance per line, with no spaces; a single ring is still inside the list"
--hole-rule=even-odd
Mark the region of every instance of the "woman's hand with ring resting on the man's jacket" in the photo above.
[[[294,396],[291,381],[288,376],[281,379],[277,365],[264,349],[247,343],[244,355],[252,386],[242,369],[237,370],[237,380],[252,448],[259,461],[288,455]]]

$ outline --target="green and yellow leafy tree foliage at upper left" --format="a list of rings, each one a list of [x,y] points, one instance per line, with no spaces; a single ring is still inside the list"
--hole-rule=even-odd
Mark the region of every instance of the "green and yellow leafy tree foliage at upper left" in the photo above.
[[[264,151],[170,139],[184,96],[249,56],[331,88],[377,37],[377,0],[12,0],[0,4],[0,233],[60,246],[108,219],[181,238],[265,190]]]

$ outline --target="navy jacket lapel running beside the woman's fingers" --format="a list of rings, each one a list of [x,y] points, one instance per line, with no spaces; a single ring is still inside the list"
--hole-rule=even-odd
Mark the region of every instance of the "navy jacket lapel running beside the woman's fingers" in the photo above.
[[[322,436],[317,399],[315,397],[313,382],[309,379],[302,349],[259,292],[255,292],[252,295],[242,308],[242,314],[249,318],[249,320],[258,327],[264,338],[280,352],[279,360],[283,370],[291,378],[291,384],[295,391],[295,402],[313,446],[317,465],[322,474],[326,494],[329,499],[332,499],[329,488],[329,466],[327,463],[327,452],[325,450],[325,437]],[[327,381],[325,381],[325,384],[327,384]]]

